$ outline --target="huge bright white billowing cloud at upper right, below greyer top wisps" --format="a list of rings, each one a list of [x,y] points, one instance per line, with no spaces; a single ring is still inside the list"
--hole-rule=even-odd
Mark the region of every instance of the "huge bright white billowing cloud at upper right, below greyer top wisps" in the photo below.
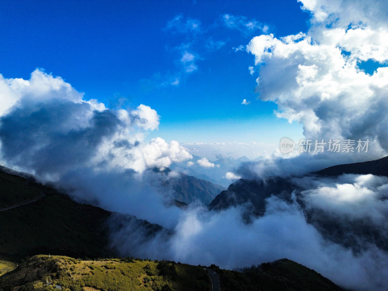
[[[323,26],[311,33],[250,41],[260,99],[275,102],[278,117],[301,122],[309,139],[370,138],[387,150],[388,68],[368,75],[358,67],[368,59],[388,61],[387,30]]]

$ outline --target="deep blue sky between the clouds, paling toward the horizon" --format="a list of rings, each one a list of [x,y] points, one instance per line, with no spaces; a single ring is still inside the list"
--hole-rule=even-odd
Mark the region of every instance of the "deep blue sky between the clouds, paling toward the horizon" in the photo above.
[[[276,142],[302,126],[255,93],[253,36],[308,29],[297,1],[3,1],[0,73],[39,67],[108,107],[143,103],[182,143]],[[227,16],[226,16],[227,15]],[[249,28],[247,28],[247,25]],[[240,49],[239,49],[240,48]],[[243,105],[242,100],[250,103]],[[269,130],[270,129],[270,130]]]

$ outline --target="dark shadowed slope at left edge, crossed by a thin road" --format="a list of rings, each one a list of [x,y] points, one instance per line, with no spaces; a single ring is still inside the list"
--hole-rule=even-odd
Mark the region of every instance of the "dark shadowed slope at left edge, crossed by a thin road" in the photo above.
[[[31,204],[0,212],[0,259],[17,261],[35,254],[107,256],[105,220],[110,212],[79,204],[67,195],[0,172],[3,207],[34,198]]]

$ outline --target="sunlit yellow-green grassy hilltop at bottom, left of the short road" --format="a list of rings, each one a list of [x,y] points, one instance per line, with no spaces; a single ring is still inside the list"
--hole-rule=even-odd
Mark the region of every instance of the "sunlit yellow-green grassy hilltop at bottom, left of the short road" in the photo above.
[[[141,259],[90,261],[35,256],[0,277],[3,290],[43,291],[53,290],[55,285],[72,291],[210,291],[210,280],[201,267]]]

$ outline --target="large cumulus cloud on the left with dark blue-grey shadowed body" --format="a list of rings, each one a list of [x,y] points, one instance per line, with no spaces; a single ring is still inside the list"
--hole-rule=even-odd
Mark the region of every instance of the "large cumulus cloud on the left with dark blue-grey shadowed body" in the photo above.
[[[141,173],[192,158],[178,142],[144,142],[146,131],[159,126],[159,115],[144,104],[107,109],[38,69],[30,80],[1,76],[0,84],[1,159],[9,167],[57,179],[81,166]]]

